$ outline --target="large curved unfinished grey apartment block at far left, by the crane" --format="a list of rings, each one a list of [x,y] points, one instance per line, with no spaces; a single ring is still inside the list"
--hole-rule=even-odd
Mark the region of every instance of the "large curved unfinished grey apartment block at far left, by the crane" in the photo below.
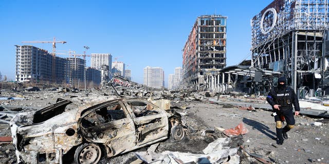
[[[16,46],[15,80],[19,82],[35,83],[65,83],[67,60],[56,57],[54,61],[54,75],[52,71],[53,56],[47,51],[34,46]],[[54,81],[52,81],[52,77]]]

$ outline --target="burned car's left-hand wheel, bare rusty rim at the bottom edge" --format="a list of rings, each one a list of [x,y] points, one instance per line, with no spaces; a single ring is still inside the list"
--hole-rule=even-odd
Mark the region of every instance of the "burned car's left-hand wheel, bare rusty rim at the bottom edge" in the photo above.
[[[79,164],[98,163],[101,159],[101,148],[92,143],[80,145],[74,155],[74,160]]]

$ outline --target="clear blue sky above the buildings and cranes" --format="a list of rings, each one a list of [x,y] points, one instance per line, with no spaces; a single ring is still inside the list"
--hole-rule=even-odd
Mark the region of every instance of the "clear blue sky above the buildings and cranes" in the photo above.
[[[0,72],[15,76],[14,45],[52,51],[51,44],[25,40],[66,41],[57,52],[111,53],[143,82],[143,68],[161,67],[168,75],[182,67],[182,48],[197,16],[227,16],[227,66],[250,59],[250,19],[272,2],[250,1],[9,1],[0,3]],[[68,57],[67,55],[58,55]],[[90,58],[87,57],[87,66]]]

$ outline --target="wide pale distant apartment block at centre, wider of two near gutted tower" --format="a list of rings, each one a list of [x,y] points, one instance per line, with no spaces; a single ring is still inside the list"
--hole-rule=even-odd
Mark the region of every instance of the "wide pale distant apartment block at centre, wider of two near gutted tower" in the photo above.
[[[160,67],[144,68],[144,85],[160,89],[165,86],[165,72]]]

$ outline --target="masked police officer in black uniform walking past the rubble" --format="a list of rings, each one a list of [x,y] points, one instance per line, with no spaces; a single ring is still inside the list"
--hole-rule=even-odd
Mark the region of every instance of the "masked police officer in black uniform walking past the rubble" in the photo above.
[[[278,79],[278,87],[274,87],[268,93],[266,100],[272,106],[273,116],[276,121],[276,130],[278,144],[282,145],[284,139],[288,139],[287,132],[294,128],[295,118],[293,113],[293,105],[295,107],[295,115],[299,115],[299,103],[296,93],[293,89],[286,86],[286,78]],[[282,122],[286,120],[287,124],[282,128]]]

